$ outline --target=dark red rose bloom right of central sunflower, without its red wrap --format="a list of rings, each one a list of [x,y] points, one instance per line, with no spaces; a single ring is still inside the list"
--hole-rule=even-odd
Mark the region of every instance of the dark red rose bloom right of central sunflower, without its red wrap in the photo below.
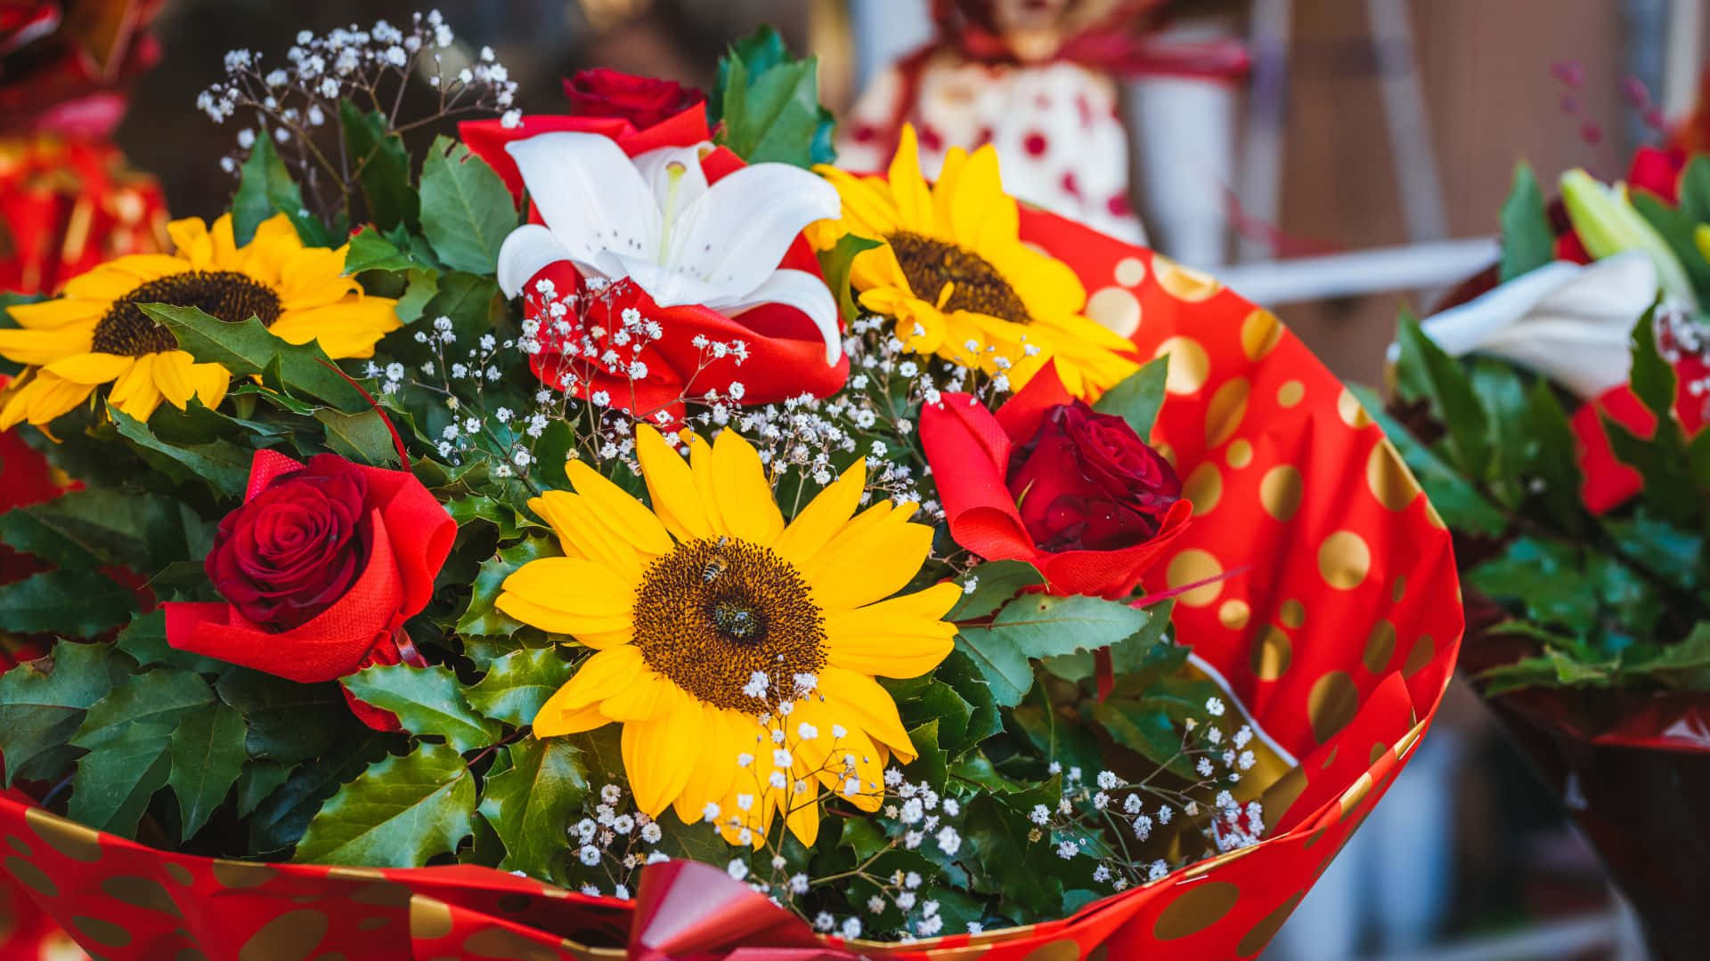
[[[1009,492],[1041,551],[1120,551],[1158,534],[1182,482],[1127,421],[1072,400],[1009,455]]]

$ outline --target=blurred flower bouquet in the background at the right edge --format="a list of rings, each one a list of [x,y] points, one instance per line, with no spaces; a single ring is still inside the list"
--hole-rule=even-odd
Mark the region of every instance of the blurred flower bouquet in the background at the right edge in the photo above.
[[[1626,183],[1530,169],[1501,263],[1402,318],[1390,427],[1455,534],[1474,686],[1643,917],[1696,958],[1710,896],[1710,156],[1691,123]],[[1701,142],[1701,140],[1696,140]],[[1402,427],[1406,426],[1406,429]]]

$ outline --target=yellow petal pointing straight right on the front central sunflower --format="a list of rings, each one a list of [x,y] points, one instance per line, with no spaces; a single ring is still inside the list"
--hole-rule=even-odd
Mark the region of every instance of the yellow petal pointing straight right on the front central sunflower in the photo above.
[[[920,677],[956,646],[956,624],[942,617],[961,587],[927,590],[826,616],[826,658],[833,667],[879,677]]]

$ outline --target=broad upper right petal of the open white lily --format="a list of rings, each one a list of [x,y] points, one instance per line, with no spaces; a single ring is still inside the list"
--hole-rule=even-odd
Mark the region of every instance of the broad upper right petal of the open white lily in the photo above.
[[[800,168],[742,168],[682,209],[665,263],[740,296],[773,274],[802,227],[841,209],[838,190]]]

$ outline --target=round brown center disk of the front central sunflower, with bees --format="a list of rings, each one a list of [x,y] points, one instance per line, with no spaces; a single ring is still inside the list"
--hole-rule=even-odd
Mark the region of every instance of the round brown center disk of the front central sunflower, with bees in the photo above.
[[[696,699],[763,715],[792,699],[797,674],[826,667],[826,619],[809,597],[802,575],[768,547],[689,540],[641,576],[634,643]],[[749,693],[756,672],[766,674],[764,696]]]

